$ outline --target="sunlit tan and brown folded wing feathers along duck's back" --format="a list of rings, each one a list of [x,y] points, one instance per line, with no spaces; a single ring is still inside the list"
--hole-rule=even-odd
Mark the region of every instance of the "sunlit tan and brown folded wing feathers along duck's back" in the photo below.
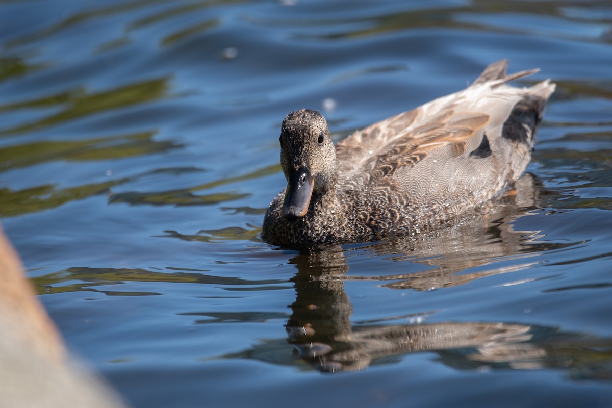
[[[510,92],[502,86],[537,72],[507,75],[507,65],[506,60],[494,62],[464,91],[389,117],[338,142],[340,172],[347,179],[373,182],[392,176],[398,168],[416,165],[434,149],[450,147],[452,157],[464,154],[468,144],[478,146],[485,126],[487,135],[496,137],[512,110],[512,98],[520,100],[515,88]],[[494,130],[491,135],[490,130]]]

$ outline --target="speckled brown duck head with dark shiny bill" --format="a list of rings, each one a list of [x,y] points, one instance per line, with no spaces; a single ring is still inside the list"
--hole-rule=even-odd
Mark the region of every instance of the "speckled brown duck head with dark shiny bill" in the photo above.
[[[280,164],[287,179],[283,218],[295,221],[308,212],[315,194],[332,190],[338,160],[327,122],[318,111],[289,113],[280,131]]]

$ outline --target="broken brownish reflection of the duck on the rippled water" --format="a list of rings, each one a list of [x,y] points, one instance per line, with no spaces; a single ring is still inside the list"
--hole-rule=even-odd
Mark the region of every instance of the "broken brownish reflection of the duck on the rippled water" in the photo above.
[[[540,231],[514,231],[512,221],[540,207],[542,191],[534,177],[526,175],[515,190],[499,199],[487,214],[473,217],[434,236],[416,236],[373,244],[368,250],[389,254],[396,261],[412,260],[435,265],[434,269],[405,275],[346,276],[348,264],[340,246],[321,247],[297,254],[291,263],[298,272],[293,278],[296,301],[286,324],[288,341],[299,358],[319,371],[338,373],[389,362],[390,357],[436,352],[446,365],[455,368],[545,368],[571,367],[573,377],[612,379],[610,339],[592,339],[581,333],[559,332],[557,328],[507,322],[439,322],[388,325],[384,321],[403,317],[418,322],[421,316],[393,316],[376,322],[351,323],[353,305],[344,280],[388,280],[392,289],[422,291],[450,287],[483,276],[526,269],[533,262],[487,272],[458,274],[504,257],[528,258],[539,251],[577,243],[538,242]],[[483,233],[484,232],[484,233]],[[424,313],[427,314],[427,313]],[[368,324],[370,323],[370,324]],[[608,355],[602,369],[602,358]]]

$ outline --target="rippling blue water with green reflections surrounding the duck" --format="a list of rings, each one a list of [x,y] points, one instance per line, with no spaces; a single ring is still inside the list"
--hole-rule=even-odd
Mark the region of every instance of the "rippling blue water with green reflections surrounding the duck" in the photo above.
[[[496,217],[259,239],[293,109],[336,140],[490,62],[558,84]],[[0,216],[135,407],[612,405],[609,1],[0,1]]]

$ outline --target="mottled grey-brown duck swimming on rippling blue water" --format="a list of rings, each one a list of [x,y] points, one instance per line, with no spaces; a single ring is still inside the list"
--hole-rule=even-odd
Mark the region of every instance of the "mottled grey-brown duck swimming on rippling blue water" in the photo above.
[[[264,241],[285,248],[371,242],[445,228],[509,190],[534,149],[555,84],[509,81],[508,61],[463,89],[376,122],[334,144],[319,111],[280,130],[287,181],[269,204]]]

